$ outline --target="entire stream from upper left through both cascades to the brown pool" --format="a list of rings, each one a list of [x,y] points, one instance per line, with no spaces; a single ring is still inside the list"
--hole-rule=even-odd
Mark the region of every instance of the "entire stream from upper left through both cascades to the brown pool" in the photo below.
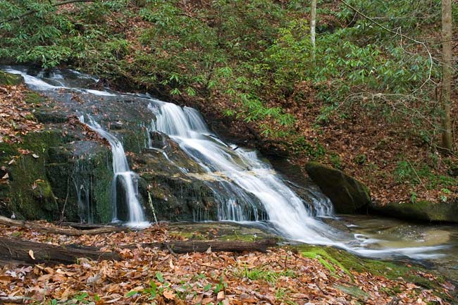
[[[262,224],[285,239],[339,247],[361,256],[407,257],[426,265],[434,263],[445,275],[458,278],[456,226],[412,225],[386,218],[336,216],[330,200],[316,186],[306,187],[307,198],[299,197],[256,151],[228,144],[211,132],[194,108],[160,101],[148,94],[100,89],[97,78],[73,70],[44,72],[26,67],[4,67],[4,70],[23,75],[30,89],[70,105],[82,123],[109,142],[114,173],[111,182],[113,222],[118,221],[116,193],[119,191],[117,187],[122,185],[128,205],[127,225],[148,225],[137,191],[137,176],[135,170],[130,169],[120,137],[116,131],[109,130],[107,114],[94,113],[89,104],[76,103],[72,100],[75,94],[92,105],[103,104],[107,109],[115,105],[122,107],[121,102],[146,106],[153,119],[144,122],[148,139],[144,148],[159,151],[171,166],[209,186],[218,201],[218,220]],[[158,135],[175,142],[190,160],[198,164],[200,173],[174,163],[170,152],[154,144],[157,141],[153,137]],[[196,221],[211,220],[202,211],[195,213]]]

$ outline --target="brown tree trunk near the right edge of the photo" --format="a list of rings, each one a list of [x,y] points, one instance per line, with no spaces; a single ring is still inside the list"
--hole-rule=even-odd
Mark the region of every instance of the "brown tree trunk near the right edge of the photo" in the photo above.
[[[442,0],[442,146],[452,150],[452,0]]]

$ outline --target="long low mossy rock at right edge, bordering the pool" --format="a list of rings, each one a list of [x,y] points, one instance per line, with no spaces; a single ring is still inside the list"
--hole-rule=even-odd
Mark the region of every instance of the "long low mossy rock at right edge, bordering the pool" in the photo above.
[[[395,218],[458,223],[458,201],[454,202],[392,202],[385,206],[371,205],[373,211]]]

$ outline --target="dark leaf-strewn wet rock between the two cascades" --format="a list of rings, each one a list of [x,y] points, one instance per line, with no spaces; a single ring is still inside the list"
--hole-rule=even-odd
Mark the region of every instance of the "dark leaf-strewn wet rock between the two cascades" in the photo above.
[[[217,220],[218,204],[211,188],[180,170],[181,167],[197,172],[200,170],[197,163],[187,158],[168,137],[164,141],[163,150],[144,149],[142,154],[130,156],[130,163],[139,175],[139,193],[149,219],[153,218],[154,210],[158,220]]]

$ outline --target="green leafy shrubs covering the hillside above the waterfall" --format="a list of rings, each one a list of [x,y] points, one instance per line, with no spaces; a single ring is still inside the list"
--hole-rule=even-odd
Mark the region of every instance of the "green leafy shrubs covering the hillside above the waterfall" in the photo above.
[[[412,37],[440,20],[440,1],[426,2],[349,0]],[[283,102],[307,94],[298,89],[307,82],[323,105],[317,124],[327,124],[337,110],[345,116],[342,104],[352,104],[390,121],[407,118],[421,126],[425,141],[433,139],[425,118],[440,113],[435,85],[425,81],[430,68],[433,79],[440,77],[438,63],[430,67],[421,44],[401,42],[347,6],[336,10],[319,1],[318,18],[332,15],[344,26],[318,23],[313,57],[307,1],[217,0],[191,11],[179,0],[94,1],[70,11],[51,3],[0,0],[1,58],[45,68],[68,63],[172,99],[221,100],[223,115],[290,142],[297,119]],[[20,18],[29,11],[35,13]],[[453,15],[457,11],[454,4]],[[144,26],[125,31],[129,18],[141,18]],[[299,138],[297,144],[295,152],[324,154],[316,143]]]

